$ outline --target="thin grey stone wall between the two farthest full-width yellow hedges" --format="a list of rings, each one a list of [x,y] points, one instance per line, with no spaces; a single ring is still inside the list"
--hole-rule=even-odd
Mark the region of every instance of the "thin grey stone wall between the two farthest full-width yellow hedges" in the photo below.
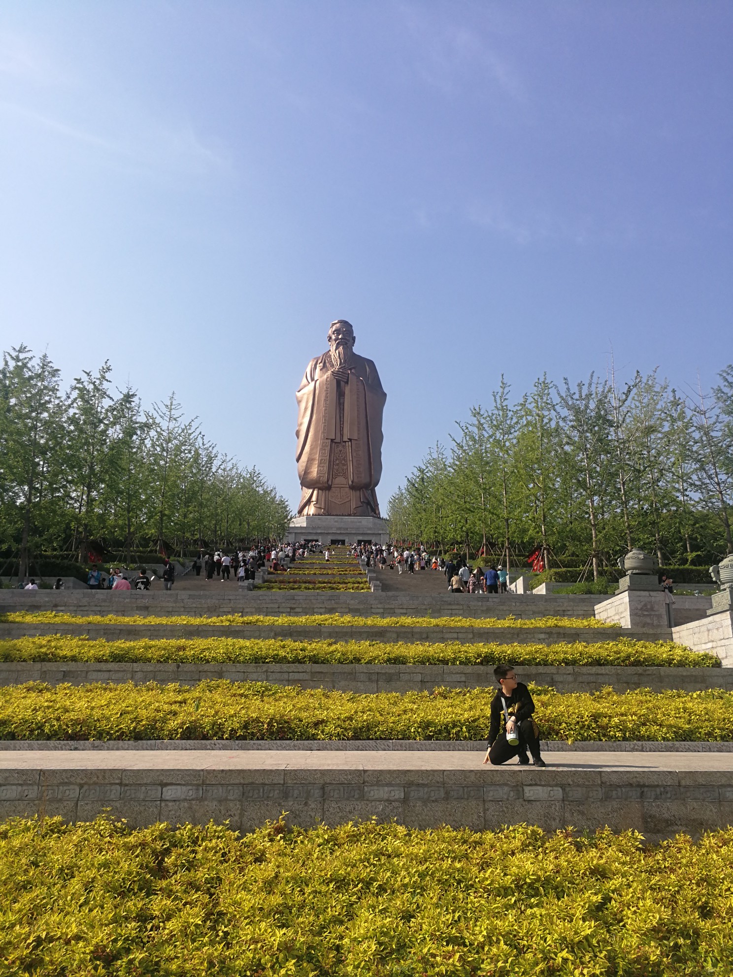
[[[457,641],[475,645],[488,642],[554,645],[562,641],[615,641],[619,637],[640,641],[670,641],[671,631],[632,631],[605,627],[359,627],[327,624],[62,624],[0,623],[0,639],[33,635],[87,635],[104,641],[137,641],[141,638],[289,638],[294,641]]]

